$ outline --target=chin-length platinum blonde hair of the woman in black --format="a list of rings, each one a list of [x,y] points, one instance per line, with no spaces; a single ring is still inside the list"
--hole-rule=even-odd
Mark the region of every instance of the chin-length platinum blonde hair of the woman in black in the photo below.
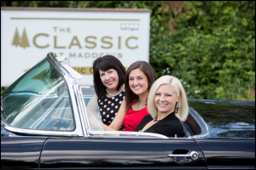
[[[179,107],[179,110],[177,112],[175,110],[175,116],[177,116],[180,121],[185,121],[189,115],[189,105],[186,92],[182,83],[177,79],[177,77],[162,76],[154,82],[148,94],[148,112],[153,117],[153,119],[157,118],[157,108],[154,105],[154,97],[156,91],[158,88],[160,88],[160,85],[163,84],[171,85],[174,88],[177,96],[181,95],[177,102],[177,107]]]

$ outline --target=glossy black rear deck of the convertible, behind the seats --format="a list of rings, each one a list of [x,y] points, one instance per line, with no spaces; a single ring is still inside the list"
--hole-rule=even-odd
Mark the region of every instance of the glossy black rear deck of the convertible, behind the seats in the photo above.
[[[255,139],[255,102],[189,99],[189,106],[207,122],[205,138]]]

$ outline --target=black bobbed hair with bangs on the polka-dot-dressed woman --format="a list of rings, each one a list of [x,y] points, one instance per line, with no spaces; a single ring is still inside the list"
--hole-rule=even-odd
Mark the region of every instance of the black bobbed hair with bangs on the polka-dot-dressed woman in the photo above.
[[[125,83],[125,67],[116,57],[112,55],[105,55],[103,57],[99,57],[95,59],[93,62],[93,83],[95,87],[95,92],[98,97],[106,95],[106,87],[103,85],[100,70],[108,71],[109,69],[113,69],[118,72],[119,76],[119,84],[116,87],[116,90]]]

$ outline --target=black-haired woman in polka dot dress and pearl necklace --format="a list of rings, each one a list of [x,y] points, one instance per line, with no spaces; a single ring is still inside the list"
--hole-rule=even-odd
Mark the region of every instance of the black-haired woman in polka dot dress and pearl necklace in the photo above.
[[[93,81],[96,95],[90,99],[87,110],[96,113],[96,101],[102,122],[110,125],[125,99],[125,67],[119,59],[105,55],[93,62]],[[119,127],[124,129],[122,125]],[[119,129],[117,129],[119,130]]]

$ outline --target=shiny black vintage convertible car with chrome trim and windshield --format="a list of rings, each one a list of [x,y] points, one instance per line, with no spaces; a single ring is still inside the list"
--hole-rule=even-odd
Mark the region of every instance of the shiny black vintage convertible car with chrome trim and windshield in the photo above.
[[[183,138],[110,132],[80,77],[49,53],[1,94],[1,169],[255,168],[255,102],[189,99]]]

